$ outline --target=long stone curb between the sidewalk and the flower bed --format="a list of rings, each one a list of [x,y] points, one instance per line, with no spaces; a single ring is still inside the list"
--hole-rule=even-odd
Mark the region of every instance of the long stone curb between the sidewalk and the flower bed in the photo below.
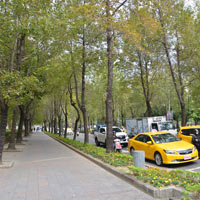
[[[46,135],[48,135],[48,134],[46,134]],[[146,184],[144,182],[137,180],[134,177],[131,177],[131,176],[128,176],[127,174],[122,173],[121,171],[110,166],[109,164],[104,163],[101,160],[94,158],[94,157],[90,156],[89,154],[86,154],[86,153],[76,149],[75,147],[63,142],[62,140],[59,140],[56,137],[53,137],[51,135],[48,135],[48,136],[53,138],[54,140],[58,141],[59,143],[65,145],[66,147],[70,148],[71,150],[75,151],[76,153],[84,156],[88,160],[90,160],[93,163],[97,164],[98,166],[104,168],[105,170],[112,173],[113,175],[121,178],[122,180],[133,185],[134,187],[137,187],[138,189],[142,190],[143,192],[151,195],[152,197],[154,197],[156,199],[171,199],[171,200],[176,199],[176,200],[178,200],[178,199],[181,199],[181,197],[183,196],[182,190],[179,188],[176,188],[175,186],[169,186],[167,188],[157,189],[149,184]]]

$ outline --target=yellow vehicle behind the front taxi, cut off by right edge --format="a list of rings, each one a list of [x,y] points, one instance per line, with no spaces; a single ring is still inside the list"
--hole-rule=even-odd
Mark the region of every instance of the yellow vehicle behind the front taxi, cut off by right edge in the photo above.
[[[182,140],[192,143],[192,136],[196,134],[196,132],[200,133],[200,125],[198,126],[183,126],[180,128],[178,132],[178,138]]]

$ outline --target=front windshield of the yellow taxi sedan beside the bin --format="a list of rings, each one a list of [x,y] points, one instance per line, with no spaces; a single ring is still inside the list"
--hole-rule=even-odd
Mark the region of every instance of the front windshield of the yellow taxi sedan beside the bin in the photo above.
[[[176,142],[180,140],[179,138],[175,137],[174,135],[170,133],[155,134],[155,135],[152,135],[152,138],[156,144]]]

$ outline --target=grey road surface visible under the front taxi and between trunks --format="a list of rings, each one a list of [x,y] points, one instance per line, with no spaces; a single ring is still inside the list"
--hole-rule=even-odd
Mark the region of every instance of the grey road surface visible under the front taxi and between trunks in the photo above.
[[[73,135],[68,135],[69,138],[73,139]],[[80,133],[79,136],[77,136],[77,140],[83,142],[84,141],[84,134]],[[95,145],[94,136],[92,134],[89,135],[89,143]],[[129,154],[128,148],[122,149],[123,154]],[[146,160],[146,165],[152,166],[152,167],[158,167],[153,161]],[[181,169],[181,170],[188,170],[193,172],[200,172],[200,159],[195,162],[190,163],[184,163],[184,164],[174,164],[174,165],[163,165],[160,168],[162,169]]]

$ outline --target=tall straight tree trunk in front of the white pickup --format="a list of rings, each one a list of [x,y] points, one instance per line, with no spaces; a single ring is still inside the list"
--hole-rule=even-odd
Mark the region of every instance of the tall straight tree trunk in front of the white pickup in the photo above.
[[[113,102],[112,102],[112,85],[113,85],[113,30],[111,24],[110,14],[110,1],[106,1],[106,18],[107,18],[107,58],[108,58],[108,82],[107,82],[107,95],[106,95],[106,123],[107,123],[107,136],[106,136],[106,152],[113,151]]]

